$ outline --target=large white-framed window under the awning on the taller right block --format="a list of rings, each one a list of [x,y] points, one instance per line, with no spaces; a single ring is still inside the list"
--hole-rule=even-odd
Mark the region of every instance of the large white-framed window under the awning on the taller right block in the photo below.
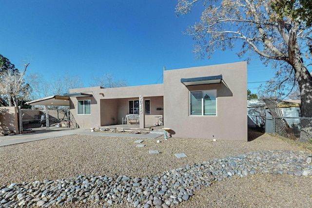
[[[191,91],[190,115],[216,115],[216,90]]]

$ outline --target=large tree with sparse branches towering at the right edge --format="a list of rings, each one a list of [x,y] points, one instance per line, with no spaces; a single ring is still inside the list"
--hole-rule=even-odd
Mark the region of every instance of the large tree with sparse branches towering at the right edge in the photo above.
[[[307,69],[312,28],[305,20],[276,14],[271,7],[274,0],[178,0],[176,12],[187,14],[199,2],[203,3],[200,20],[187,29],[196,40],[195,53],[211,58],[216,49],[240,44],[239,57],[254,52],[276,69],[267,85],[272,93],[283,94],[298,83],[302,116],[312,117],[312,77]]]

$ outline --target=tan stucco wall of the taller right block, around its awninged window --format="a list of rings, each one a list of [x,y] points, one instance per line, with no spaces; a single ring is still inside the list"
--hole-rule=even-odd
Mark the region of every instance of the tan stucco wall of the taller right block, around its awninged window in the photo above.
[[[181,78],[216,76],[221,84],[186,87]],[[237,62],[164,72],[164,124],[173,137],[247,141],[247,63]],[[189,92],[217,90],[217,115],[189,115]],[[212,136],[214,135],[214,137]]]

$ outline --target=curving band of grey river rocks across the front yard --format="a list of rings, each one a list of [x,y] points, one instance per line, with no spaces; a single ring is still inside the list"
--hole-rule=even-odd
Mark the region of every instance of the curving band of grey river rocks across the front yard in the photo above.
[[[114,140],[114,138],[108,139]],[[133,143],[131,148],[136,149],[134,141],[134,139],[131,140]],[[166,155],[165,150],[173,148],[171,143],[174,141],[169,140],[165,146],[155,146],[157,145],[154,144],[156,143],[155,139],[153,141],[144,140],[146,147],[139,149],[139,151],[145,152],[157,147],[161,153],[150,156],[152,158],[150,162],[157,160],[157,158],[163,160],[164,155],[165,157],[169,156]],[[37,144],[40,142],[44,143],[44,141],[39,141]],[[120,141],[117,140],[116,142],[119,143]],[[215,142],[213,143],[215,145]],[[219,142],[223,147],[225,143],[227,142]],[[243,144],[249,145],[248,143]],[[189,148],[192,149],[190,146]],[[176,148],[173,149],[176,151]],[[127,152],[127,150],[125,151]],[[0,186],[0,207],[66,207],[68,205],[104,204],[103,206],[108,207],[126,205],[136,208],[166,208],[183,204],[190,200],[196,191],[224,180],[258,174],[287,174],[294,177],[312,175],[312,155],[305,151],[250,151],[237,156],[202,160],[195,163],[190,163],[192,160],[189,159],[189,155],[194,155],[192,151],[184,149],[184,152],[188,155],[187,158],[176,158],[172,154],[172,160],[182,159],[185,160],[183,162],[188,163],[179,166],[179,168],[165,170],[150,176],[143,173],[139,173],[137,176],[133,174],[79,174],[75,177],[62,179],[50,180],[45,178],[43,180],[42,178],[42,180],[20,181]],[[122,158],[120,159],[122,160]],[[110,162],[108,161],[108,163]],[[108,166],[112,167],[110,164]],[[131,167],[129,168],[131,169]]]

